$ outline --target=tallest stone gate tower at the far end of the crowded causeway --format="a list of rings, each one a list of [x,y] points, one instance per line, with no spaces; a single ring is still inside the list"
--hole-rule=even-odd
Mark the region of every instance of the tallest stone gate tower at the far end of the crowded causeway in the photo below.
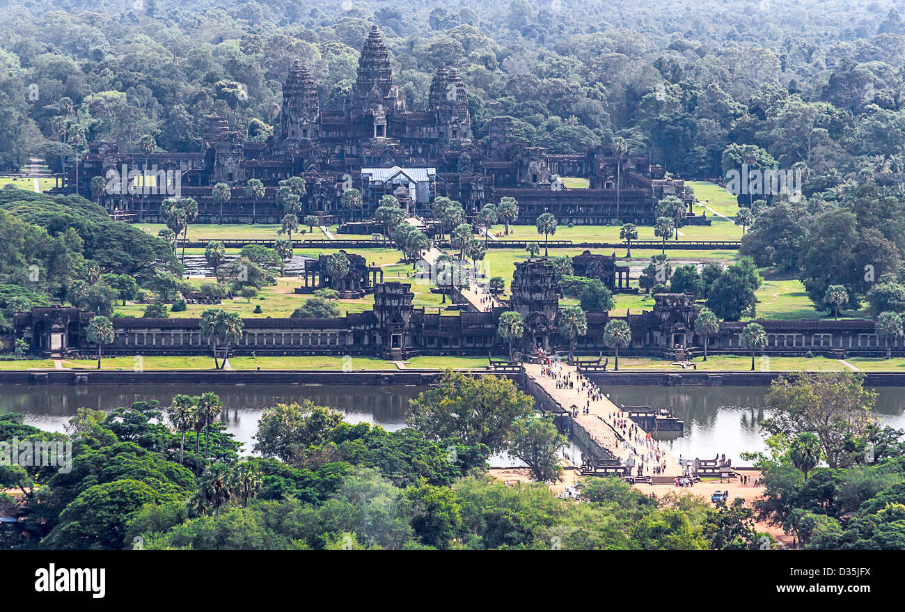
[[[548,353],[557,333],[559,310],[559,283],[553,266],[544,259],[516,263],[511,291],[510,309],[525,319],[521,349],[535,353],[539,347]]]

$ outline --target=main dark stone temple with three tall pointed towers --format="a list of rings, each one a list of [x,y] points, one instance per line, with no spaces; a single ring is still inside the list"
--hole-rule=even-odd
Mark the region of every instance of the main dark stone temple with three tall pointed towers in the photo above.
[[[129,194],[130,183],[120,176],[124,167],[127,173],[157,174],[147,181],[148,190],[156,193]],[[91,143],[78,174],[78,192],[91,197],[90,179],[98,176],[119,185],[100,196],[103,206],[120,218],[145,221],[159,220],[160,204],[172,196],[178,179],[180,196],[198,202],[198,223],[248,223],[252,208],[255,220],[278,223],[283,211],[275,201],[276,188],[282,179],[296,176],[306,183],[300,214],[319,215],[325,224],[353,214],[367,219],[387,194],[416,207],[447,196],[461,202],[466,213],[513,196],[520,205],[519,223],[527,224],[551,212],[562,225],[617,220],[652,225],[653,208],[667,195],[679,196],[691,209],[684,182],[668,177],[650,158],[616,157],[605,146],[580,155],[555,155],[517,138],[510,117],[493,118],[488,138],[473,139],[465,85],[454,68],[441,66],[434,73],[426,109],[408,109],[376,26],[367,35],[356,81],[342,108],[324,108],[314,76],[296,61],[283,84],[275,134],[266,142],[252,142],[230,129],[224,118],[209,117],[200,151],[145,156],[120,152],[115,143]],[[73,169],[71,185],[75,177]],[[560,177],[586,178],[589,187],[567,188]],[[260,202],[245,196],[251,178],[266,186]],[[222,219],[212,196],[213,186],[221,182],[232,188]],[[342,206],[348,188],[361,192],[362,210]],[[702,221],[690,213],[689,223]]]

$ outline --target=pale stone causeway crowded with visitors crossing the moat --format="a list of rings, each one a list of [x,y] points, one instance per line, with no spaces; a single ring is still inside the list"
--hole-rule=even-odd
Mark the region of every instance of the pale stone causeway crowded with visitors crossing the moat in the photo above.
[[[561,406],[566,409],[570,406],[578,406],[578,416],[573,416],[572,418],[585,429],[598,445],[604,447],[623,464],[630,458],[633,459],[635,465],[632,470],[633,474],[636,473],[637,465],[642,462],[642,458],[644,463],[653,464],[650,454],[660,448],[661,461],[666,462],[666,471],[657,475],[681,476],[682,467],[675,457],[669,454],[665,448],[662,448],[656,440],[648,441],[641,427],[638,427],[640,435],[636,438],[629,440],[626,436],[624,439],[621,432],[617,430],[616,422],[620,418],[628,420],[628,416],[624,416],[619,407],[611,402],[609,398],[602,397],[598,400],[592,400],[589,414],[586,415],[581,408],[587,406],[587,394],[582,393],[578,388],[557,388],[556,379],[543,376],[541,374],[542,368],[542,366],[537,364],[525,364],[525,370],[528,375],[534,378],[535,382],[543,387],[550,397],[556,399]],[[571,374],[573,380],[578,379],[577,368],[563,363],[561,364],[560,375],[566,376],[567,374]],[[632,422],[630,421],[630,423]],[[653,475],[650,467],[644,470],[644,475]]]

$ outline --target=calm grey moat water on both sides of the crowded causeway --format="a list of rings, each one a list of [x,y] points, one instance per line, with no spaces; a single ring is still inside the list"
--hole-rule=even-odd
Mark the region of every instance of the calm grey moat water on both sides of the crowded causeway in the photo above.
[[[905,394],[899,387],[878,387],[877,414],[884,425],[905,428]],[[310,399],[315,404],[342,411],[352,423],[367,422],[395,430],[405,426],[409,400],[424,387],[367,387],[354,385],[4,385],[0,386],[0,414],[20,412],[25,422],[46,430],[62,431],[80,407],[110,410],[135,401],[156,399],[167,406],[178,393],[199,395],[213,391],[224,402],[228,431],[243,443],[244,452],[254,445],[258,419],[265,407]],[[757,424],[768,411],[767,387],[660,387],[611,386],[605,391],[615,404],[672,407],[682,421],[682,435],[662,434],[663,443],[678,457],[712,457],[726,454],[734,464],[740,454],[764,448]],[[563,451],[572,458],[580,450]],[[747,463],[747,462],[744,462]],[[495,457],[491,464],[510,464]]]

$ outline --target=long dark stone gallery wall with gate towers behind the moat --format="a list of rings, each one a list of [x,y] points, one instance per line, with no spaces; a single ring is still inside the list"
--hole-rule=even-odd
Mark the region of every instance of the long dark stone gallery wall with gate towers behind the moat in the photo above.
[[[557,331],[559,287],[553,266],[535,259],[517,265],[512,295],[492,311],[463,310],[456,314],[428,311],[412,305],[414,294],[405,282],[378,282],[371,287],[374,308],[336,319],[245,319],[242,339],[233,347],[236,355],[368,355],[408,359],[419,355],[502,355],[508,340],[497,328],[503,311],[518,311],[525,333],[517,346],[532,354],[566,350],[568,339]],[[467,304],[461,300],[461,303]],[[433,310],[433,309],[432,309]],[[97,346],[87,338],[91,312],[77,308],[36,307],[14,315],[10,333],[0,338],[5,347],[24,339],[33,353],[45,357],[91,357]],[[579,355],[598,356],[609,351],[604,328],[611,319],[626,320],[632,344],[624,355],[675,357],[700,354],[703,345],[694,331],[694,297],[683,293],[654,296],[653,311],[614,317],[588,312],[587,332],[576,339]],[[197,319],[112,319],[114,340],[104,347],[109,355],[204,355],[210,350],[201,336]],[[825,355],[881,356],[886,347],[878,339],[872,320],[758,320],[767,331],[763,353],[776,356]],[[741,339],[746,323],[721,322],[710,338],[711,353],[748,352]],[[896,339],[892,352],[905,354],[905,339]]]

